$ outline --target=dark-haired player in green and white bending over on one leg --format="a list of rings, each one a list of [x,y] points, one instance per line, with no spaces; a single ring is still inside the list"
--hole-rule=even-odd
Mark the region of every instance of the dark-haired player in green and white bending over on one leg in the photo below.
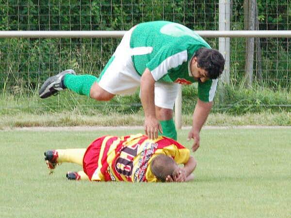
[[[213,104],[218,77],[224,70],[223,56],[194,31],[168,21],[141,23],[125,33],[99,78],[77,76],[65,70],[48,78],[39,90],[46,98],[65,88],[99,101],[116,94],[130,94],[140,86],[145,111],[145,132],[150,139],[177,139],[173,107],[178,83],[198,82],[198,100],[188,139],[199,147],[199,133]]]

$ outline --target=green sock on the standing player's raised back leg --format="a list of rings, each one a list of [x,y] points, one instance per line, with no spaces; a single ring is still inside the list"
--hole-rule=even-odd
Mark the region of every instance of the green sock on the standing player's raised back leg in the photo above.
[[[92,75],[73,75],[66,74],[64,77],[64,85],[75,93],[87,95],[90,97],[90,89],[97,77]]]

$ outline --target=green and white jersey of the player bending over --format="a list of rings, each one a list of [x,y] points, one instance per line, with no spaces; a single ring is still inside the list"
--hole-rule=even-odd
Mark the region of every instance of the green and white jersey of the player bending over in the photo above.
[[[132,62],[138,74],[146,68],[155,81],[191,84],[197,82],[191,75],[190,62],[201,47],[211,48],[189,28],[169,21],[153,21],[135,26],[130,38],[135,50]],[[209,102],[214,98],[217,79],[198,83],[198,97]]]

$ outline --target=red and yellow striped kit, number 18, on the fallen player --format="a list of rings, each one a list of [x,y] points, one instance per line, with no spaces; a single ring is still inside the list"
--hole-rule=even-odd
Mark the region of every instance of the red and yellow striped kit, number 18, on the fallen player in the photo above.
[[[172,156],[178,164],[190,157],[189,149],[163,136],[157,140],[142,134],[104,136],[87,148],[83,170],[94,181],[157,182],[149,166],[160,154]]]

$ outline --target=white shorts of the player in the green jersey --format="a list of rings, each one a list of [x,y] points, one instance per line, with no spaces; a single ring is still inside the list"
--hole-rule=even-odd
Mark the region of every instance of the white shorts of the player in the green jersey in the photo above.
[[[148,54],[152,47],[130,48],[130,36],[134,27],[127,31],[116,48],[113,57],[106,64],[98,79],[99,86],[112,94],[132,94],[140,86],[141,76],[136,72],[132,55]],[[173,109],[178,93],[177,83],[155,83],[155,105]]]

